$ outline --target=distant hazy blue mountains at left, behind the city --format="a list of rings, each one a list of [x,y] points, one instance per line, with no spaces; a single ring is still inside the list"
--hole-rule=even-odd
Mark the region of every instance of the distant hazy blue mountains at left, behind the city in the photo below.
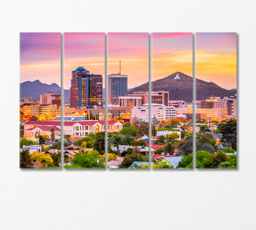
[[[52,84],[45,84],[40,82],[39,80],[36,81],[25,81],[20,83],[20,98],[22,97],[32,97],[36,100],[39,100],[40,95],[42,93],[47,92],[54,92],[57,95],[60,95],[60,86],[55,83]],[[65,98],[70,97],[70,90],[64,89]]]

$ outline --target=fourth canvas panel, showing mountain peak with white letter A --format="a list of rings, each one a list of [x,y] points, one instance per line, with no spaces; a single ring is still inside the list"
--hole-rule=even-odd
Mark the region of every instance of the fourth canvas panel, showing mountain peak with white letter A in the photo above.
[[[193,34],[151,34],[153,169],[193,168]]]

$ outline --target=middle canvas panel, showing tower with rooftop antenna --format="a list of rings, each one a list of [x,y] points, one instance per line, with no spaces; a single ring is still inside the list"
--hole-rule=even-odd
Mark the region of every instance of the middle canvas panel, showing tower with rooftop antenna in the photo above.
[[[148,33],[108,33],[108,167],[149,168]]]

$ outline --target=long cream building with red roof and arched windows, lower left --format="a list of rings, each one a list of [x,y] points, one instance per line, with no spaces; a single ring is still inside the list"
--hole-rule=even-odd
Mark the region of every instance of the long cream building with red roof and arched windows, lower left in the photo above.
[[[28,121],[24,124],[24,137],[36,137],[36,135],[38,134],[41,135],[42,132],[50,133],[50,130],[52,129],[52,127],[55,127],[54,130],[56,129],[55,130],[56,133],[60,133],[61,122],[60,121]],[[108,121],[108,132],[119,132],[121,129],[122,129],[121,122]],[[86,137],[90,132],[98,133],[98,132],[104,132],[104,131],[105,131],[105,121],[64,121],[64,125],[63,125],[64,135],[66,134],[73,137]]]

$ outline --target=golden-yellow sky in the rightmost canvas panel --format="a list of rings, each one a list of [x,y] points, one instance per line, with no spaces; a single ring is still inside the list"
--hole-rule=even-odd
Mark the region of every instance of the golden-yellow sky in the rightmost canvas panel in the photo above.
[[[236,33],[196,33],[196,77],[236,88]]]

